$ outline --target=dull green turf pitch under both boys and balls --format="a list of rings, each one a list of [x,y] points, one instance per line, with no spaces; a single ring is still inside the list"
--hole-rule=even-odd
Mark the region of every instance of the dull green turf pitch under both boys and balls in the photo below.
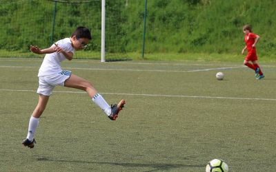
[[[0,171],[200,172],[215,158],[233,172],[276,169],[276,63],[255,80],[242,61],[63,62],[126,107],[110,121],[87,94],[56,87],[28,149],[41,61],[0,58]]]

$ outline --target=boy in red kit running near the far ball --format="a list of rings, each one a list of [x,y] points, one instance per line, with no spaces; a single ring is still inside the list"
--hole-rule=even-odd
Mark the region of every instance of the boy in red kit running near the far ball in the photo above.
[[[244,25],[244,41],[246,42],[246,46],[242,50],[242,54],[247,49],[247,56],[244,59],[244,65],[255,70],[255,78],[262,79],[264,78],[264,74],[257,63],[257,51],[256,51],[256,43],[259,41],[259,35],[254,34],[251,30],[250,25]],[[249,63],[251,61],[252,63]]]

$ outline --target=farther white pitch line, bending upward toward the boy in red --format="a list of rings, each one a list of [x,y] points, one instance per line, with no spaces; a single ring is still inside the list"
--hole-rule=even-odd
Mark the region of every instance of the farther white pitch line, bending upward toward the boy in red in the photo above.
[[[39,68],[34,66],[0,66],[7,68]],[[80,68],[80,67],[64,67],[64,69],[80,69],[80,70],[109,70],[109,71],[135,71],[135,72],[204,72],[210,70],[217,69],[233,69],[233,68],[241,68],[244,66],[238,67],[215,67],[208,69],[195,69],[195,70],[150,70],[150,69],[102,69],[102,68]]]

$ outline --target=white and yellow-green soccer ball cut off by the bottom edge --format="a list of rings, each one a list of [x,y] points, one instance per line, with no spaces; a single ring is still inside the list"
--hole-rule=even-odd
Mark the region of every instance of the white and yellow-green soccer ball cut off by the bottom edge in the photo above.
[[[206,166],[206,172],[228,172],[228,165],[224,160],[211,160]]]

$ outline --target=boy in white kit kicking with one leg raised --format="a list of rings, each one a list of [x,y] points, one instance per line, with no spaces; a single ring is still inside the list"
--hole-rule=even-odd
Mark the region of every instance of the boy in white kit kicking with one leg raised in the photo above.
[[[93,87],[88,80],[85,80],[70,71],[61,69],[61,61],[71,61],[75,50],[83,50],[91,40],[91,34],[88,28],[79,27],[72,33],[70,38],[61,39],[51,47],[40,50],[39,47],[30,45],[30,50],[35,54],[46,54],[43,63],[39,69],[39,102],[30,117],[28,135],[22,144],[25,147],[34,147],[34,133],[39,124],[39,117],[43,113],[48,103],[52,90],[56,85],[71,87],[86,91],[92,101],[96,103],[106,113],[110,120],[116,120],[119,111],[124,107],[126,101],[120,100],[117,105],[108,105],[101,94]]]

